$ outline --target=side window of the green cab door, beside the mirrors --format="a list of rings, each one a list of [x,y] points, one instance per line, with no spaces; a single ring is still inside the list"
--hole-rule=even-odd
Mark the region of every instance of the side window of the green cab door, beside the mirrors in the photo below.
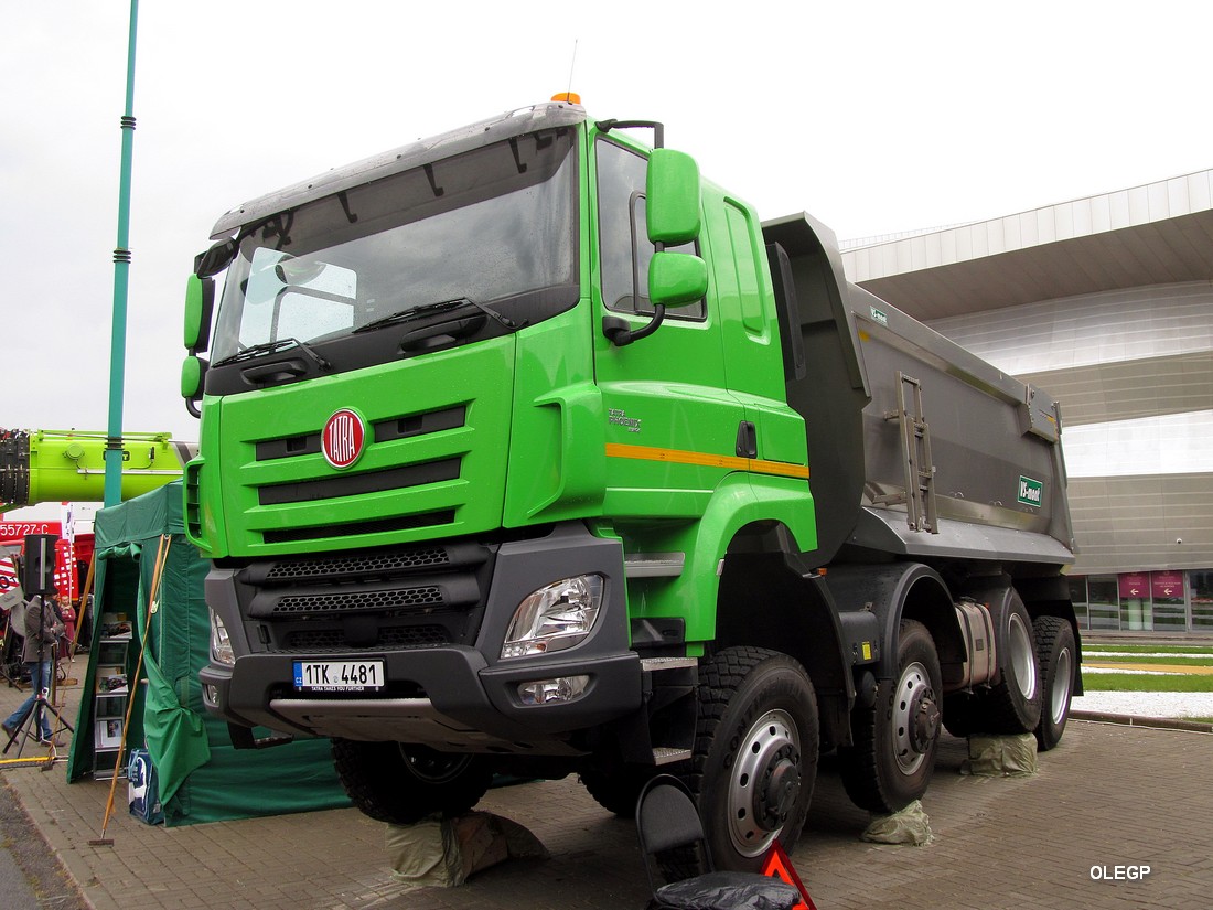
[[[598,140],[597,159],[603,301],[609,309],[651,313],[648,285],[653,244],[649,243],[644,227],[647,159],[604,138]],[[695,244],[668,249],[674,252],[697,252]],[[704,318],[704,301],[666,312],[666,319]]]

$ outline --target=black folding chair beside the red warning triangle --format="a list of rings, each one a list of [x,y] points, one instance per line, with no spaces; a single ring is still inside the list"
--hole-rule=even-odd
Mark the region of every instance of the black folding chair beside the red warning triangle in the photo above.
[[[704,836],[695,801],[678,778],[660,774],[645,784],[636,802],[636,830],[653,899],[649,910],[791,910],[801,893],[758,872],[718,872]],[[657,854],[684,849],[707,871],[657,885]]]

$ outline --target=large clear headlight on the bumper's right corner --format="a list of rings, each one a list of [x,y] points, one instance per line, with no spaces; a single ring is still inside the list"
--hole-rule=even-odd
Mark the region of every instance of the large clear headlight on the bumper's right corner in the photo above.
[[[580,644],[594,627],[602,599],[602,575],[562,579],[528,595],[509,620],[501,656],[547,654]]]

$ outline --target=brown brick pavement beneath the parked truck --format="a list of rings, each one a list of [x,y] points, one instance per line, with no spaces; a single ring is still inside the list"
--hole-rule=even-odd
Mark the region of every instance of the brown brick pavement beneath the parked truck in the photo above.
[[[79,693],[67,692],[73,718]],[[19,698],[0,688],[0,711]],[[935,835],[927,847],[861,842],[867,815],[824,761],[792,854],[820,910],[1209,905],[1213,735],[1071,721],[1029,779],[962,777],[966,755],[964,741],[944,736],[923,800]],[[528,826],[549,859],[513,860],[460,888],[410,891],[392,880],[383,826],[354,809],[149,827],[127,815],[120,783],[114,844],[93,847],[108,783],[69,785],[62,764],[2,777],[95,910],[616,910],[648,897],[633,826],[573,778],[495,790],[479,807]],[[1092,880],[1092,866],[1131,864],[1152,872]]]

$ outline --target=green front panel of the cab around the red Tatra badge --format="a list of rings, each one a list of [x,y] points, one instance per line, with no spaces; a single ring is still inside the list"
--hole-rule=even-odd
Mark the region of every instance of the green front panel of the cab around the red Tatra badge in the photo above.
[[[205,460],[199,462],[198,479],[203,508],[212,510],[212,518],[204,518],[204,528],[226,528],[222,539],[204,530],[206,548],[212,556],[274,556],[500,528],[506,490],[503,454],[511,437],[514,339],[509,335],[307,383],[204,399]],[[459,460],[457,477],[323,501],[315,495],[301,495],[297,501],[268,502],[267,490],[323,484],[332,478],[334,470],[319,451],[258,460],[257,444],[319,434],[341,408],[357,410],[368,426],[466,408],[462,426],[376,442],[358,462],[361,473],[371,474]],[[404,524],[418,516],[443,516],[444,521],[394,530],[368,529]],[[274,540],[301,529],[318,530],[302,540]]]

